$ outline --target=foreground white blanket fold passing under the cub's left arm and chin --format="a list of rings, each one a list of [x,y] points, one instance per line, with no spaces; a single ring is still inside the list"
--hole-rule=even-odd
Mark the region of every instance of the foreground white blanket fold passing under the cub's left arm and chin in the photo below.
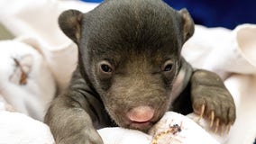
[[[0,117],[1,144],[54,144],[49,127],[41,121],[19,112],[2,111]],[[149,134],[118,127],[98,132],[105,144],[219,144],[196,122],[176,112],[166,112]]]

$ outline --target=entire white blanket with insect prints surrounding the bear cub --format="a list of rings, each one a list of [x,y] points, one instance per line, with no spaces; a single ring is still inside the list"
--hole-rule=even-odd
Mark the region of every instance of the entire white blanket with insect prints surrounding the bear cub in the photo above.
[[[49,128],[41,120],[50,99],[57,90],[60,92],[68,84],[71,72],[77,65],[76,46],[59,31],[57,17],[69,8],[87,12],[95,6],[78,1],[0,1],[0,23],[17,37],[16,40],[0,41],[1,143],[53,143]],[[178,140],[171,133],[167,138],[160,137],[160,140],[181,143],[195,137],[198,138],[197,143],[204,140],[214,143],[215,139],[226,144],[252,143],[256,137],[255,47],[256,25],[243,24],[233,31],[197,26],[195,35],[187,41],[182,53],[194,67],[206,68],[222,76],[233,94],[237,120],[229,136],[215,137],[187,117],[171,113],[172,116],[168,116],[170,121],[177,121],[174,124],[180,125],[179,120],[182,120],[182,125],[191,126],[191,129],[182,128]],[[166,124],[164,119],[160,125]],[[161,132],[165,129],[156,130]],[[116,143],[115,140],[120,138],[123,140],[120,144],[131,143],[132,140],[133,143],[140,143],[140,140],[141,143],[150,143],[152,138],[140,131],[121,128],[106,128],[100,132],[105,143]],[[39,139],[40,135],[44,139]],[[199,139],[200,136],[206,139]]]

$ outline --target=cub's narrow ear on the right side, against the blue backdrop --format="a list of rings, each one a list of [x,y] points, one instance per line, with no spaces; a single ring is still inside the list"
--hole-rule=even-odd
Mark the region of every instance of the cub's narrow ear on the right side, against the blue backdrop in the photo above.
[[[181,15],[181,24],[183,25],[182,32],[183,32],[183,43],[185,43],[194,33],[195,31],[195,24],[192,20],[190,14],[187,12],[187,9],[183,8],[178,11],[178,14]]]

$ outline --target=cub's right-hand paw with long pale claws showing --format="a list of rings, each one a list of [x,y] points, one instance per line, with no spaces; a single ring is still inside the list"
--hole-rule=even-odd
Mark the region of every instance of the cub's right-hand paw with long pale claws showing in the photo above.
[[[235,121],[233,97],[215,73],[196,70],[191,76],[191,102],[195,113],[211,121],[215,132],[219,126],[230,126]]]

